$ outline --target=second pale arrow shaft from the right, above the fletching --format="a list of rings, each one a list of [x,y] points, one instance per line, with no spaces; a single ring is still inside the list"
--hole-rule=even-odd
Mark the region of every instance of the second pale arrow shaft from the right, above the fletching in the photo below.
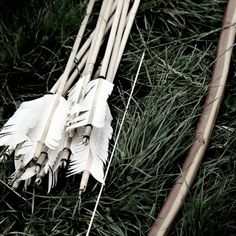
[[[117,54],[119,52],[121,38],[122,38],[124,28],[126,25],[126,19],[127,19],[127,14],[128,14],[128,10],[129,10],[129,5],[130,5],[130,0],[125,0],[124,5],[123,5],[123,9],[122,9],[122,13],[121,13],[121,17],[120,17],[119,27],[118,27],[117,34],[116,34],[110,63],[109,63],[109,67],[108,67],[108,71],[107,71],[107,76],[106,76],[106,79],[109,81],[112,81],[112,78],[113,78],[114,67],[115,67],[115,63],[116,63]]]

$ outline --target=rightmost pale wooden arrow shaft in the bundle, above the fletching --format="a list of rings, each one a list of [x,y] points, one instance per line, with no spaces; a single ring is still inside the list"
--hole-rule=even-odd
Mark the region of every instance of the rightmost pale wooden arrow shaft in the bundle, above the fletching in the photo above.
[[[112,73],[113,77],[112,77],[111,81],[113,81],[115,79],[115,75],[116,75],[116,72],[117,72],[118,67],[120,65],[121,57],[124,53],[125,46],[127,44],[127,41],[128,41],[129,35],[130,35],[130,31],[131,31],[131,28],[133,26],[133,22],[134,22],[139,4],[140,4],[140,0],[135,0],[134,3],[133,3],[132,8],[130,10],[128,22],[127,22],[127,25],[125,27],[125,31],[124,31],[124,34],[123,34],[123,37],[122,37],[122,41],[121,41],[119,52],[118,52],[118,55],[117,55],[114,71]]]

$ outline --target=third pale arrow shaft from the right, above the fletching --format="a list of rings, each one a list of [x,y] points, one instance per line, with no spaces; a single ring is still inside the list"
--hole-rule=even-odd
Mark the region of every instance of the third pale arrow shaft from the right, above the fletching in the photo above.
[[[100,76],[103,76],[103,77],[106,76],[107,67],[108,67],[108,64],[110,61],[111,52],[112,52],[116,32],[117,32],[118,25],[119,25],[119,20],[120,20],[120,16],[121,16],[121,12],[122,12],[123,3],[124,3],[124,0],[120,0],[118,2],[116,12],[114,15],[114,21],[112,23],[111,32],[110,32],[109,39],[107,42],[107,47],[106,47],[106,51],[105,51],[105,55],[104,55],[104,59],[103,59],[101,71],[100,71]]]

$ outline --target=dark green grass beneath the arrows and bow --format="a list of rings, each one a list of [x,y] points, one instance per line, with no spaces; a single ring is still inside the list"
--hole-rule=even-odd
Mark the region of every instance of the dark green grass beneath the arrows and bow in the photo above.
[[[1,123],[41,96],[65,66],[86,1],[1,1]],[[146,235],[191,144],[210,81],[223,0],[143,0],[110,104],[115,134],[137,64],[146,56],[91,235]],[[201,169],[171,235],[236,234],[236,60]],[[7,182],[12,160],[0,165]],[[99,184],[78,199],[79,177],[27,201],[1,186],[3,235],[84,235]]]

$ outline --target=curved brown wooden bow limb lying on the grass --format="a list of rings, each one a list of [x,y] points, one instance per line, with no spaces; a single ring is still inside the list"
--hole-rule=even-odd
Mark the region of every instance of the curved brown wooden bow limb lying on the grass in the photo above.
[[[229,71],[236,33],[236,1],[229,0],[220,34],[212,81],[196,130],[196,138],[186,157],[181,174],[172,187],[149,236],[167,235],[197,174],[212,134]]]

